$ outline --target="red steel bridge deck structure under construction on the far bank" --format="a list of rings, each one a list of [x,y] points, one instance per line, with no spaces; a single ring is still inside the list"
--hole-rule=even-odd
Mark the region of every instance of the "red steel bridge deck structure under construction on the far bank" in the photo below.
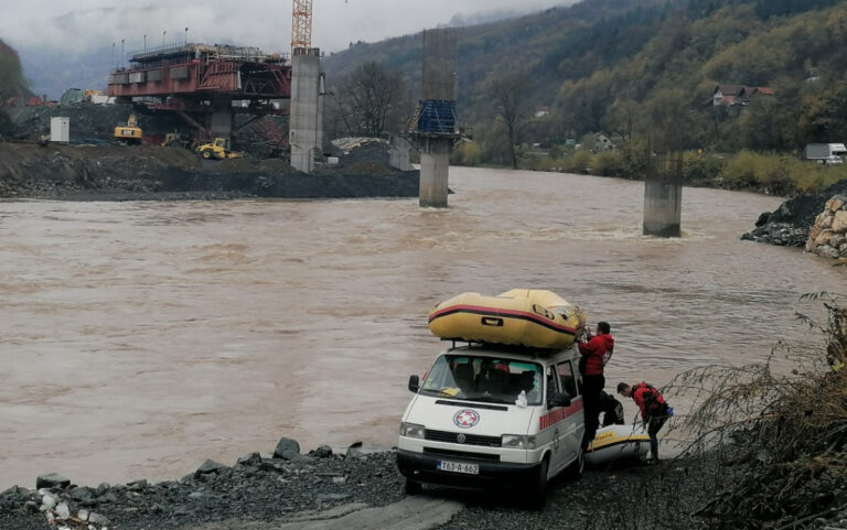
[[[129,66],[109,75],[108,95],[116,102],[173,112],[194,131],[195,140],[233,137],[255,120],[288,115],[291,64],[282,54],[256,47],[185,43],[131,53]],[[234,129],[235,115],[250,118]],[[267,123],[257,132],[267,132]],[[271,131],[272,141],[287,134]],[[268,140],[271,140],[269,138]]]

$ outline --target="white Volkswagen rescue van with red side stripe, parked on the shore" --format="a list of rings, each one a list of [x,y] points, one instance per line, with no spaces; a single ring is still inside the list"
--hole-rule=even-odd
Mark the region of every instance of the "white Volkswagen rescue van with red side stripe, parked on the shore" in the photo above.
[[[576,347],[549,353],[469,344],[441,353],[406,408],[397,465],[422,484],[522,489],[534,507],[565,469],[582,474],[585,414]]]

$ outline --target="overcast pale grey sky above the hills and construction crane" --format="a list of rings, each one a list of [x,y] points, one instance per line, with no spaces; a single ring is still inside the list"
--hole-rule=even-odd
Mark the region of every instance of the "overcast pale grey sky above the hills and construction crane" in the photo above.
[[[266,52],[291,45],[291,0],[3,1],[0,37],[17,47],[77,50],[147,44],[234,43]],[[336,52],[447,24],[457,15],[537,11],[573,0],[313,0],[312,45]]]

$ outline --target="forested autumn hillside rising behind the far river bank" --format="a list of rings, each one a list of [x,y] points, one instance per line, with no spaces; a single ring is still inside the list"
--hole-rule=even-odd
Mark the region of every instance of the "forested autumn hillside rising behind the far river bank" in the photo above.
[[[502,134],[494,86],[510,83],[519,142],[603,131],[656,149],[791,152],[847,141],[845,0],[585,0],[457,31],[458,108],[486,149]],[[332,84],[374,61],[417,97],[421,44],[358,43],[324,67]],[[711,104],[718,85],[772,90],[730,108]]]

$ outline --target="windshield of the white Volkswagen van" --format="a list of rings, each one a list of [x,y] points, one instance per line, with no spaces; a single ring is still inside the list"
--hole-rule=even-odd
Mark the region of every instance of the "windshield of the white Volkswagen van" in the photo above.
[[[542,404],[542,365],[526,360],[473,355],[442,355],[420,386],[420,393],[515,404]]]

